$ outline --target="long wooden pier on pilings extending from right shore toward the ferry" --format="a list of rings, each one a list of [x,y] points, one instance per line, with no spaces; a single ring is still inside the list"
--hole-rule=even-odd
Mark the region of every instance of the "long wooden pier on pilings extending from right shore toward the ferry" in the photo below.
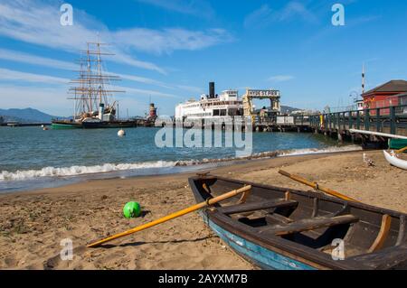
[[[313,132],[373,146],[384,146],[395,135],[407,137],[407,105],[252,120],[253,132]]]

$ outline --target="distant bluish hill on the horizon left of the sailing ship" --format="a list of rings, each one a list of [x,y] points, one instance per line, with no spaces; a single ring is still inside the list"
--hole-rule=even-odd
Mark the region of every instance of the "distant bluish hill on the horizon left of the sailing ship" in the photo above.
[[[24,122],[24,123],[50,123],[52,118],[57,116],[51,116],[33,108],[25,109],[0,109],[0,116],[4,122]],[[62,117],[59,117],[62,118]]]

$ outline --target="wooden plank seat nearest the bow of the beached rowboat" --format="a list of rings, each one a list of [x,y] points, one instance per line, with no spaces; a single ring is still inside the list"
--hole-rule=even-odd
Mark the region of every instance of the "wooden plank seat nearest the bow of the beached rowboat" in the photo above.
[[[244,203],[238,205],[232,205],[227,207],[219,208],[223,214],[231,215],[231,214],[239,214],[239,213],[246,213],[252,212],[256,210],[262,209],[278,209],[278,208],[296,208],[298,206],[298,201],[295,200],[270,200],[270,201],[261,201],[261,202],[252,202],[252,203]]]

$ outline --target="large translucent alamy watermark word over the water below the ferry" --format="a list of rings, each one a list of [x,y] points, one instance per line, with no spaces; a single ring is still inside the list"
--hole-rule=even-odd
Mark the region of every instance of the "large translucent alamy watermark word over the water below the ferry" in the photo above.
[[[160,116],[156,127],[161,127],[155,137],[159,148],[234,148],[236,157],[250,156],[253,150],[251,121],[241,116],[175,122]]]

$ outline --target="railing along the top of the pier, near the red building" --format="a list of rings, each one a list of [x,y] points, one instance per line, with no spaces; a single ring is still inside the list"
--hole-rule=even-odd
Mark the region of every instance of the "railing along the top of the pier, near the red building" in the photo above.
[[[407,135],[407,105],[314,115],[310,116],[310,126],[317,130],[338,133],[357,129]]]

